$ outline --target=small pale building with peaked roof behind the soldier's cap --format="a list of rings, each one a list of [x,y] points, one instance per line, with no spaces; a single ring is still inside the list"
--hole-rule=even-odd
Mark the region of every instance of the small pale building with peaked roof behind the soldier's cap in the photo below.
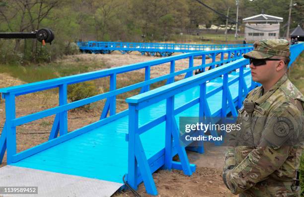
[[[261,40],[268,38],[279,38],[280,22],[282,17],[271,16],[264,13],[243,19],[245,23],[245,35],[247,40]]]

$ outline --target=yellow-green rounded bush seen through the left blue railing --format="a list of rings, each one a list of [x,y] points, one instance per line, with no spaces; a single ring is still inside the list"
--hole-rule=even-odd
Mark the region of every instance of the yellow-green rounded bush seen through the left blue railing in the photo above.
[[[91,96],[94,96],[98,93],[97,88],[92,81],[86,81],[82,83],[76,83],[69,85],[68,87],[68,99],[71,102],[79,101],[81,99],[85,99]],[[91,108],[90,105],[81,106],[78,109],[88,110]]]

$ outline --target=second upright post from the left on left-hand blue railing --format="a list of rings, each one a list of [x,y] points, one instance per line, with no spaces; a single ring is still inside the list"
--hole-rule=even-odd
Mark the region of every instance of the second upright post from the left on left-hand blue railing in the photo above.
[[[62,84],[59,86],[59,106],[68,103],[68,85]],[[68,112],[64,111],[59,114],[59,132],[60,135],[68,133]]]

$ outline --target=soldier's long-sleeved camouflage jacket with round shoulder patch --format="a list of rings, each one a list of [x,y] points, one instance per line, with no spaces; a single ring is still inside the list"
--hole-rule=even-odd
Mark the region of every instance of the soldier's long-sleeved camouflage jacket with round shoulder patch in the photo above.
[[[224,169],[235,166],[226,174],[233,194],[266,196],[263,184],[290,184],[297,178],[303,149],[304,97],[285,74],[264,95],[261,86],[249,92],[244,103],[251,101],[255,103],[251,117],[244,107],[239,110],[237,123],[242,131],[230,139]],[[278,188],[277,183],[273,187],[266,189],[269,196],[287,196],[283,194],[286,189]]]

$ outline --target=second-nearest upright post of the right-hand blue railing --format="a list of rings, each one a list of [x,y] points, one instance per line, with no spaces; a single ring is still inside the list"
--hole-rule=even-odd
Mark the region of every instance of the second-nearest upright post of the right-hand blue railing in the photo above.
[[[172,169],[172,118],[174,118],[174,96],[166,101],[165,162],[164,168]]]

